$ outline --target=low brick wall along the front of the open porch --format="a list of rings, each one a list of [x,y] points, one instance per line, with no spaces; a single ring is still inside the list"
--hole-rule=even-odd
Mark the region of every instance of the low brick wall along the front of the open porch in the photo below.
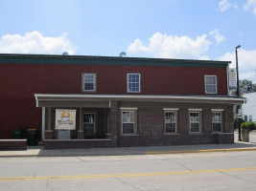
[[[111,139],[71,139],[71,140],[58,140],[58,139],[45,139],[44,149],[88,149],[88,148],[111,148],[113,147]]]

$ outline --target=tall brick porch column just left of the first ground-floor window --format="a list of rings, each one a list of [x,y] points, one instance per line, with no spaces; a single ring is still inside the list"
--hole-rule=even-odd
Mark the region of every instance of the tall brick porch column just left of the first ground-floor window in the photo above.
[[[120,137],[120,101],[110,101],[109,108],[109,137],[113,141],[113,147],[118,146]]]

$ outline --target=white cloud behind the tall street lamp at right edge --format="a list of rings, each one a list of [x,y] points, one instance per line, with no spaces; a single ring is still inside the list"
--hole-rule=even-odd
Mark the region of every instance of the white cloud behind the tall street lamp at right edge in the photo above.
[[[236,54],[225,53],[220,60],[232,61],[230,68],[236,68]],[[238,50],[239,76],[240,79],[249,79],[256,83],[256,50]]]

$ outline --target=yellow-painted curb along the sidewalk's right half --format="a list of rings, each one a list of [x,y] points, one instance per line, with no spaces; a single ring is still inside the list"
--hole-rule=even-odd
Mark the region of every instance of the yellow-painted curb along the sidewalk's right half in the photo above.
[[[181,153],[213,153],[213,152],[232,152],[232,151],[256,151],[256,147],[250,148],[235,148],[235,149],[209,149],[209,150],[185,150],[185,151],[159,151],[145,152],[145,155],[157,154],[181,154]]]

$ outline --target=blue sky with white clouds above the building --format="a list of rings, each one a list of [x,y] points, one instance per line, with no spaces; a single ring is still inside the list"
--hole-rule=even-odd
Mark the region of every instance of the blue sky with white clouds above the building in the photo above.
[[[0,0],[0,53],[232,61],[256,83],[256,0]]]

